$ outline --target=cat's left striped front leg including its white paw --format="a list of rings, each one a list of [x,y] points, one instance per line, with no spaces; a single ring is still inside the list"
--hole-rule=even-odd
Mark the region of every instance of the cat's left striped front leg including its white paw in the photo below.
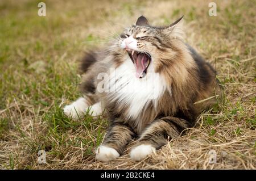
[[[103,144],[96,149],[96,159],[108,162],[119,157],[134,136],[135,133],[129,125],[112,123]]]

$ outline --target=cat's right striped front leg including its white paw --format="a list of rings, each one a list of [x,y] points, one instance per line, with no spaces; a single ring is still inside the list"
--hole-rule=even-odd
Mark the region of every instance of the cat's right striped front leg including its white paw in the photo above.
[[[131,149],[130,157],[136,161],[144,159],[156,149],[167,144],[168,137],[176,138],[190,124],[177,117],[162,117],[153,121],[139,137],[138,143]]]

